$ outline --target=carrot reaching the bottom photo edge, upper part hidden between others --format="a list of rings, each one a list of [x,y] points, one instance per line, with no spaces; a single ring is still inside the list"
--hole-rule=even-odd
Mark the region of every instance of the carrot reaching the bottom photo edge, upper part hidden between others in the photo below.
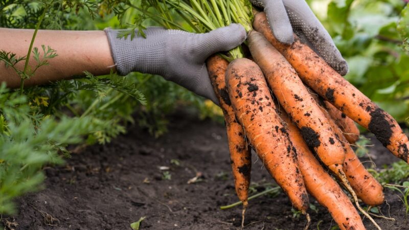
[[[290,140],[297,150],[298,162],[307,191],[331,213],[340,229],[365,229],[362,220],[336,181],[321,167],[305,144],[300,130],[285,112],[280,117],[287,123]]]

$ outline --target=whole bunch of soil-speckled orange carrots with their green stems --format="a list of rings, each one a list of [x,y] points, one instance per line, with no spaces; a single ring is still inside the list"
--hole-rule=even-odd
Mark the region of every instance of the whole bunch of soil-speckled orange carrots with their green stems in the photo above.
[[[276,40],[265,14],[253,16],[245,0],[164,0],[155,7],[201,22],[191,25],[199,32],[233,22],[248,32],[246,44],[251,57],[244,58],[237,48],[207,60],[224,113],[236,193],[244,207],[243,221],[254,149],[308,223],[311,194],[341,229],[365,229],[356,209],[380,229],[358,199],[368,205],[381,204],[382,186],[360,163],[351,144],[359,137],[356,122],[408,162],[409,140],[390,114],[334,71],[297,35],[291,45]],[[164,17],[172,21],[170,14]]]

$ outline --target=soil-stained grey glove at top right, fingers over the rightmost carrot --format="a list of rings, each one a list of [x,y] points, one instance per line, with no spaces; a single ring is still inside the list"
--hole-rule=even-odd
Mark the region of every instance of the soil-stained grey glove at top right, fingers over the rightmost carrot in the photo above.
[[[264,8],[268,24],[280,42],[291,44],[292,32],[310,47],[340,75],[346,75],[348,64],[335,47],[331,36],[303,0],[250,0],[253,5]]]

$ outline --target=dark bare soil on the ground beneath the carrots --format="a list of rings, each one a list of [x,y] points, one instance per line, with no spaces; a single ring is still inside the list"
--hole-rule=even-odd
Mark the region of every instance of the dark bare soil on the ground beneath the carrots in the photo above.
[[[378,167],[397,160],[379,142],[374,144],[370,154]],[[273,180],[255,154],[253,160],[252,181],[261,192]],[[224,126],[179,114],[158,139],[129,127],[107,145],[73,154],[65,166],[48,167],[46,189],[17,200],[19,213],[7,220],[18,223],[15,229],[131,229],[130,223],[141,217],[146,217],[141,229],[238,229],[241,207],[219,209],[237,201],[230,170]],[[197,175],[196,182],[188,183]],[[388,204],[381,210],[396,221],[376,219],[383,229],[409,229],[396,194],[386,191]],[[329,213],[310,201],[318,210],[310,210],[310,229],[319,223],[320,229],[331,229],[335,223]],[[293,216],[281,192],[249,202],[245,229],[302,229],[305,223],[303,216]]]

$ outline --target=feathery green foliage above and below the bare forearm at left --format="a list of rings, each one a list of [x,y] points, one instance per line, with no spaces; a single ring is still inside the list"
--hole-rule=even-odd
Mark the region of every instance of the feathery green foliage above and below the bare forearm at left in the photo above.
[[[95,30],[128,27],[139,1],[10,1],[0,0],[0,27]],[[94,20],[93,20],[94,19]],[[145,25],[152,22],[146,20]],[[33,36],[35,39],[35,36]],[[30,47],[28,56],[0,51],[21,81],[34,76],[58,52],[47,44]],[[28,63],[24,69],[17,63]],[[22,84],[21,84],[22,86]],[[62,164],[69,144],[104,144],[137,123],[155,136],[166,131],[165,116],[179,105],[215,116],[214,108],[188,90],[158,76],[110,74],[59,81],[20,90],[0,87],[0,213],[15,212],[13,198],[42,188],[42,168]],[[136,116],[132,114],[137,112]],[[219,116],[219,115],[216,115]],[[134,120],[136,118],[136,120]],[[218,117],[220,118],[220,117]],[[169,175],[165,176],[170,179]]]

